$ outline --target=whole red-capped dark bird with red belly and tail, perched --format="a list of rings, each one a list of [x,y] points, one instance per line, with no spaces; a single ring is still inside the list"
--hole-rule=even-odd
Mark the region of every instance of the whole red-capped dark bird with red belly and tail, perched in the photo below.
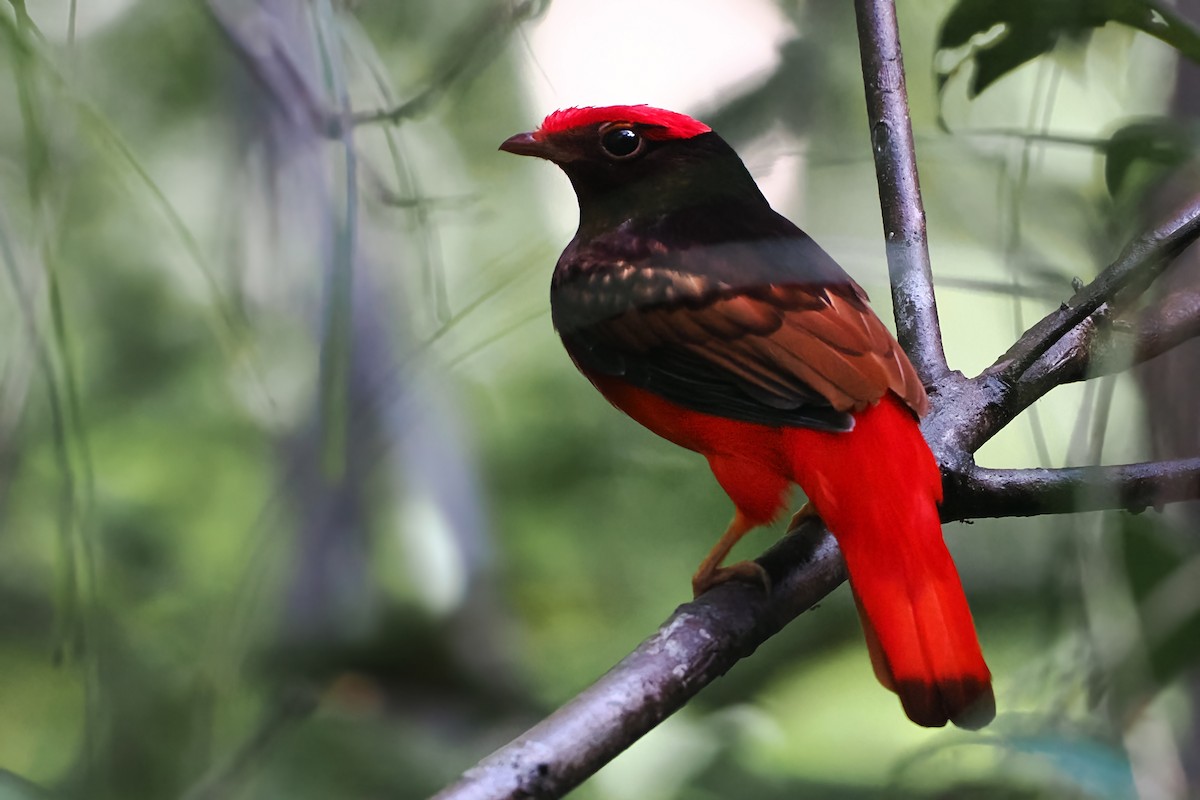
[[[942,537],[929,399],[866,293],[772,209],[708,125],[650,106],[563,108],[500,150],[558,166],[580,219],[551,277],[568,355],[617,409],[702,455],[734,505],[701,595],[792,485],[846,563],[874,672],[910,720],[978,729],[991,673]],[[796,519],[793,518],[793,522]]]

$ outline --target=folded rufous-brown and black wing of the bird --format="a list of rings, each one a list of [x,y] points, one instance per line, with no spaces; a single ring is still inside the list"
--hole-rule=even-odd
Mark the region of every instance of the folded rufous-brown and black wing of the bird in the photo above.
[[[697,411],[846,431],[850,414],[890,390],[923,414],[928,401],[907,357],[857,287],[850,289],[716,293],[560,332],[584,371]]]

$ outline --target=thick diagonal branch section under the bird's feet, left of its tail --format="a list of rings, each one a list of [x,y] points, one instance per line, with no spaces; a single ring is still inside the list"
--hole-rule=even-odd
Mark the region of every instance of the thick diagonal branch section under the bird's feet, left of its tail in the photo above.
[[[684,603],[600,680],[463,774],[434,800],[559,798],[846,579],[816,518],[758,559],[770,594],[740,582]]]

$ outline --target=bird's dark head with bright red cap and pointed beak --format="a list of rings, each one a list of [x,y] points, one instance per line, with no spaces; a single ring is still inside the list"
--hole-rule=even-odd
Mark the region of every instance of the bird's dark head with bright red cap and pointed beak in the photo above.
[[[738,196],[762,201],[742,160],[712,128],[650,106],[564,108],[500,150],[558,164],[575,187],[584,224]]]

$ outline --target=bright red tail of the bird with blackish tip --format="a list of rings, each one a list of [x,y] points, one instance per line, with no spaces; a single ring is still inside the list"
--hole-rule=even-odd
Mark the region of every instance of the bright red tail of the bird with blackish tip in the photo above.
[[[942,540],[942,481],[912,413],[888,395],[851,433],[792,428],[796,481],[838,539],[880,682],[917,724],[996,714],[962,584]]]

